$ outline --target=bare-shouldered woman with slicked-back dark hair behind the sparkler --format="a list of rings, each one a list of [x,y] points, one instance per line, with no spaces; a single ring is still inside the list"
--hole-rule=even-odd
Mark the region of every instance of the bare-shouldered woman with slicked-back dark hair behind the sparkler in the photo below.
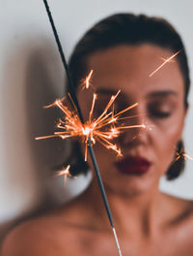
[[[163,62],[160,57],[166,59],[178,50],[172,61],[150,76]],[[138,102],[130,112],[135,118],[125,123],[145,122],[148,127],[126,131],[118,139],[123,158],[95,145],[123,255],[193,255],[192,201],[158,190],[160,177],[177,178],[184,164],[175,158],[183,149],[190,81],[178,33],[161,18],[126,14],[107,17],[88,31],[69,61],[85,119],[92,95],[78,84],[92,69],[99,98],[94,114],[102,112],[110,96],[121,89],[116,111]],[[83,150],[80,153],[74,143],[70,161],[78,172],[87,169]],[[93,168],[90,158],[88,165]],[[118,255],[96,176],[68,205],[17,227],[2,249],[2,256],[11,255]]]

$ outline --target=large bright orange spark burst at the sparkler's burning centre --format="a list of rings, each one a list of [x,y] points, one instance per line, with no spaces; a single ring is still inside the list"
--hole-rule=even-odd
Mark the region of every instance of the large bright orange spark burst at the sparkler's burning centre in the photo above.
[[[91,140],[92,144],[96,144],[97,141],[98,143],[104,145],[106,148],[114,150],[118,155],[122,155],[121,148],[118,147],[117,144],[113,144],[111,140],[117,138],[121,132],[124,132],[124,130],[136,127],[145,128],[146,125],[124,125],[118,123],[118,121],[121,121],[122,119],[131,118],[132,116],[122,118],[122,114],[124,112],[128,112],[129,110],[133,109],[138,105],[138,103],[135,103],[129,106],[128,108],[124,109],[123,111],[117,113],[114,112],[114,109],[113,111],[110,111],[110,108],[113,106],[114,101],[118,97],[119,93],[120,90],[116,95],[111,96],[111,99],[106,105],[104,111],[97,118],[93,119],[93,112],[96,103],[96,94],[94,93],[92,108],[89,113],[89,119],[85,123],[82,123],[80,121],[77,110],[70,98],[70,95],[69,99],[74,109],[72,111],[69,109],[69,106],[67,104],[63,103],[65,100],[64,98],[61,100],[56,100],[53,104],[45,108],[57,106],[59,109],[61,109],[62,112],[64,112],[64,118],[59,119],[59,122],[56,125],[57,128],[61,129],[62,131],[55,132],[53,135],[36,138],[36,140],[47,139],[52,137],[60,137],[62,139],[67,139],[70,137],[79,137],[86,145],[85,161],[87,160],[88,139]]]

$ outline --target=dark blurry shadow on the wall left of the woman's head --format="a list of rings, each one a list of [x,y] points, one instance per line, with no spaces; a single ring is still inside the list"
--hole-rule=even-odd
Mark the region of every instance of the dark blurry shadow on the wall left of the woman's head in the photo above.
[[[43,109],[43,106],[53,103],[57,98],[64,97],[65,78],[58,52],[45,44],[42,48],[34,48],[26,65],[26,120],[36,172],[38,176],[41,176],[41,185],[44,184],[47,188],[45,197],[51,200],[53,196],[56,201],[54,186],[50,183],[53,178],[50,179],[50,177],[55,167],[64,163],[70,144],[59,138],[40,141],[36,141],[35,138],[54,133],[55,124],[62,116],[62,112],[56,107]]]

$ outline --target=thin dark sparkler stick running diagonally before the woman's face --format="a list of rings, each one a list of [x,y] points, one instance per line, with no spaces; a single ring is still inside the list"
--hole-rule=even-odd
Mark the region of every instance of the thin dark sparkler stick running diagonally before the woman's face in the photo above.
[[[82,116],[82,113],[80,111],[80,107],[79,107],[79,104],[78,104],[78,101],[77,101],[75,89],[74,89],[73,84],[72,84],[72,82],[70,80],[70,77],[69,77],[69,67],[68,67],[68,64],[67,64],[67,61],[66,61],[66,58],[65,58],[65,54],[64,54],[64,51],[63,51],[63,48],[61,46],[61,43],[60,43],[57,31],[56,31],[56,28],[55,28],[55,25],[54,25],[53,18],[51,16],[51,12],[49,10],[49,6],[48,6],[46,0],[43,0],[43,3],[44,3],[44,6],[45,6],[47,15],[49,17],[49,21],[50,21],[50,24],[51,24],[51,27],[52,27],[52,30],[53,30],[53,33],[54,33],[54,37],[55,37],[55,40],[56,40],[56,43],[57,43],[60,55],[61,55],[62,62],[64,64],[64,68],[65,68],[66,73],[67,73],[67,78],[69,80],[69,87],[71,89],[70,95],[71,95],[71,97],[73,99],[73,102],[74,102],[76,108],[77,108],[77,112],[79,114],[80,120],[81,120],[82,123],[84,123],[83,122],[83,116]],[[94,169],[95,169],[95,172],[96,172],[96,177],[97,177],[98,185],[99,185],[100,192],[101,192],[101,195],[102,195],[102,199],[103,199],[103,202],[104,202],[104,206],[106,208],[107,215],[108,215],[108,218],[109,218],[112,230],[113,230],[114,238],[116,240],[118,252],[119,252],[119,255],[122,256],[119,240],[118,240],[118,237],[117,237],[117,234],[116,234],[116,230],[115,230],[115,226],[114,226],[113,219],[112,219],[111,210],[109,208],[109,204],[108,204],[108,201],[107,201],[107,197],[106,197],[106,193],[105,193],[105,190],[104,190],[103,182],[102,182],[102,179],[101,179],[101,176],[100,176],[97,164],[96,164],[96,157],[95,157],[95,153],[94,153],[94,150],[93,150],[90,138],[88,138],[88,147],[89,147],[90,155],[91,155],[91,158],[92,158],[92,161],[93,161],[93,164],[94,164]]]

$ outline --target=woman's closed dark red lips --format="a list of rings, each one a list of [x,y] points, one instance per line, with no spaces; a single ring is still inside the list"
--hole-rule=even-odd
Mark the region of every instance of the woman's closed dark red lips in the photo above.
[[[116,162],[115,166],[121,173],[126,175],[141,176],[146,174],[152,163],[141,156],[127,156]]]

